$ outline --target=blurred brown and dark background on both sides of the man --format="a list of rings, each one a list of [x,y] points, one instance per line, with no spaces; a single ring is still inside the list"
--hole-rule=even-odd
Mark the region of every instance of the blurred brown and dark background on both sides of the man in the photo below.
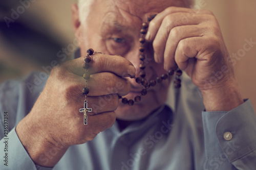
[[[0,82],[70,59],[76,45],[73,3],[76,0],[0,2]],[[250,39],[256,42],[256,1],[198,0],[193,8],[209,9],[216,15],[243,98],[250,98],[256,110],[256,44],[244,49]]]

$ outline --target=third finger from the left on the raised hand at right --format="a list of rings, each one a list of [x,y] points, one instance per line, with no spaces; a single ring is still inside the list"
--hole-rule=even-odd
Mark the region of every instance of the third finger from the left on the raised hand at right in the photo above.
[[[175,61],[181,63],[180,58],[175,58],[175,51],[178,46],[178,43],[185,38],[190,37],[201,37],[204,35],[207,28],[200,25],[193,26],[179,26],[170,30],[166,47],[164,51],[164,68],[166,70],[172,69],[175,67]],[[183,69],[181,65],[180,69]]]

